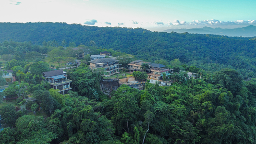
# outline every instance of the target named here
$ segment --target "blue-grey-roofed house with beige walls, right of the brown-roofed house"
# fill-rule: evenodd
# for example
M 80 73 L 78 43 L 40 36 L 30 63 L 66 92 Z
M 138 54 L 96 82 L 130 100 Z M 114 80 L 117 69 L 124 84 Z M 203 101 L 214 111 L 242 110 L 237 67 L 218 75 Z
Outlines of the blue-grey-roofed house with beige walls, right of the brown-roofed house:
M 147 73 L 148 78 L 160 80 L 160 79 L 163 79 L 164 73 L 165 73 L 165 76 L 171 75 L 171 73 L 173 72 L 173 69 L 165 69 L 164 67 L 166 66 L 159 63 L 151 63 L 150 72 Z

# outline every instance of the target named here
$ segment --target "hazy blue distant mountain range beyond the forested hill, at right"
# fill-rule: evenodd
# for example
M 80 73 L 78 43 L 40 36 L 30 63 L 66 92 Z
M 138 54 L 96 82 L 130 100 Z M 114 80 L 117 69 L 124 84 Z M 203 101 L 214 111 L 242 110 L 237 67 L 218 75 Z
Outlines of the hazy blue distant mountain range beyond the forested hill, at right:
M 164 30 L 163 32 L 177 32 L 177 33 L 184 33 L 188 32 L 191 34 L 213 34 L 213 35 L 227 35 L 227 36 L 243 36 L 243 37 L 253 37 L 256 36 L 256 26 L 249 25 L 246 27 L 241 28 L 211 28 L 211 27 L 203 27 L 203 28 L 191 28 L 191 29 L 168 29 Z

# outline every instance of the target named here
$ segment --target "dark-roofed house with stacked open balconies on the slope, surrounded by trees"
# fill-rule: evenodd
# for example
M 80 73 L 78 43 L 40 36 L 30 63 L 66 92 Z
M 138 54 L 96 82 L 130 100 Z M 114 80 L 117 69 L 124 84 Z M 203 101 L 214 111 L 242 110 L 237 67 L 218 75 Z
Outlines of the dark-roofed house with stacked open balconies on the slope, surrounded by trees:
M 72 81 L 67 79 L 66 72 L 63 70 L 43 72 L 43 77 L 49 82 L 51 88 L 58 89 L 60 94 L 67 94 L 72 89 L 70 87 Z

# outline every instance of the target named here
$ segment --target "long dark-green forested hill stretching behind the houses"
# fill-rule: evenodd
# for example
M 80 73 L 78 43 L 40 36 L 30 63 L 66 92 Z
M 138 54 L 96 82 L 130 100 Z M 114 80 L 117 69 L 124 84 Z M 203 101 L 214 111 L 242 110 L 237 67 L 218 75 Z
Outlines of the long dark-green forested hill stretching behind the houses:
M 252 77 L 256 72 L 256 38 L 201 35 L 188 33 L 151 32 L 142 28 L 97 27 L 66 23 L 0 23 L 0 41 L 31 41 L 43 45 L 46 41 L 66 46 L 95 44 L 137 56 L 138 59 L 170 62 L 179 59 L 205 70 L 218 63 L 223 67 L 239 69 Z M 95 43 L 90 43 L 94 41 Z M 46 44 L 45 42 L 45 44 Z M 214 66 L 219 68 L 220 66 Z M 210 70 L 215 71 L 215 70 Z M 216 70 L 217 71 L 217 70 Z M 218 69 L 219 71 L 219 69 Z M 251 74 L 248 74 L 251 72 Z

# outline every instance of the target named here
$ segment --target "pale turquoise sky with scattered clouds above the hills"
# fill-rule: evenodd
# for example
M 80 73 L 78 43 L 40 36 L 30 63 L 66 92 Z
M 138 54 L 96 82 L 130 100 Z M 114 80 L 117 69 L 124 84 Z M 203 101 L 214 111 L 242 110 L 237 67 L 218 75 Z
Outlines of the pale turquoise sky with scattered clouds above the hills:
M 236 28 L 256 25 L 256 0 L 0 0 L 0 22 Z

